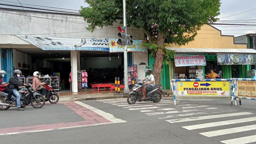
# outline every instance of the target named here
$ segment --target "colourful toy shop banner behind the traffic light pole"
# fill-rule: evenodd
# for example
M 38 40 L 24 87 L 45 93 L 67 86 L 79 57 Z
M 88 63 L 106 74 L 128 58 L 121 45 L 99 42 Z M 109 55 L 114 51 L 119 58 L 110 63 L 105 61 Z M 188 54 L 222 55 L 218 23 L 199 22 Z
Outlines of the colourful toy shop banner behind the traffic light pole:
M 117 38 L 109 38 L 109 52 L 124 52 L 124 46 L 117 44 Z M 132 40 L 132 45 L 127 45 L 127 49 L 130 49 L 129 52 L 142 52 L 147 53 L 147 46 L 143 43 L 147 43 L 147 40 Z

